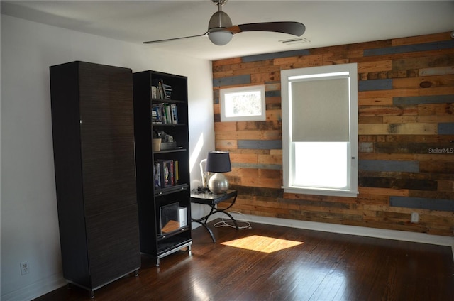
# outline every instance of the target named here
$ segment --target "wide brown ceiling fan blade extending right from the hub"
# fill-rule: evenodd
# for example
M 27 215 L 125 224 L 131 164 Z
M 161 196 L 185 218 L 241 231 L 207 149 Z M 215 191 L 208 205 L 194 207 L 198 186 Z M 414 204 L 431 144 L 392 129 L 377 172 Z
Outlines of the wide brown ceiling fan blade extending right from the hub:
M 273 31 L 275 33 L 289 33 L 290 35 L 301 36 L 306 31 L 306 26 L 299 22 L 263 22 L 235 25 L 225 28 L 233 34 L 243 31 Z

